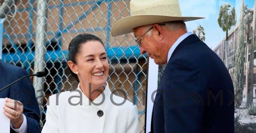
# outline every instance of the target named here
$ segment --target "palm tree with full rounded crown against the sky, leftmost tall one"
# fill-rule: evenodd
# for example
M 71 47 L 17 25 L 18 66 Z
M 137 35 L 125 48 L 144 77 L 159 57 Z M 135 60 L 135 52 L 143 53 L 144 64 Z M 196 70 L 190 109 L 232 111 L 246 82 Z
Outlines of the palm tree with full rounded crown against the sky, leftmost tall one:
M 236 25 L 236 9 L 233 7 L 230 10 L 230 4 L 224 4 L 221 6 L 218 16 L 218 25 L 220 28 L 226 32 L 226 50 L 225 50 L 225 65 L 227 66 L 227 41 L 228 41 L 228 30 L 232 26 Z

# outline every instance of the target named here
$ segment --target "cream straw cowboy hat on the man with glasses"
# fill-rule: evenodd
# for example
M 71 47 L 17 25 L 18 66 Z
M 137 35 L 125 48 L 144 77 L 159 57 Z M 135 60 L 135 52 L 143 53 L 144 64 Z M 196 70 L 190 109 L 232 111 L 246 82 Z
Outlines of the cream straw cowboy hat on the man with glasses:
M 143 25 L 183 20 L 191 21 L 203 17 L 183 17 L 178 0 L 131 0 L 131 16 L 117 21 L 111 30 L 112 36 L 133 32 Z

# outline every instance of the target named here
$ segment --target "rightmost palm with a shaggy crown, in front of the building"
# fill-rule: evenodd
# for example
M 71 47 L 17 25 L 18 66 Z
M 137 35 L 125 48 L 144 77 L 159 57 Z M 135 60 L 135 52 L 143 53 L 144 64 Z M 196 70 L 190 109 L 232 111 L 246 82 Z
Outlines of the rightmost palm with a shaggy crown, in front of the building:
M 250 38 L 250 24 L 253 22 L 253 10 L 248 9 L 247 5 L 244 6 L 244 25 L 247 27 L 247 47 L 249 46 L 249 38 Z M 247 101 L 246 106 L 249 106 L 253 103 L 253 58 L 254 58 L 254 47 L 253 43 L 251 43 L 250 47 L 250 62 L 249 62 L 249 74 L 247 78 Z M 247 69 L 246 69 L 247 71 Z

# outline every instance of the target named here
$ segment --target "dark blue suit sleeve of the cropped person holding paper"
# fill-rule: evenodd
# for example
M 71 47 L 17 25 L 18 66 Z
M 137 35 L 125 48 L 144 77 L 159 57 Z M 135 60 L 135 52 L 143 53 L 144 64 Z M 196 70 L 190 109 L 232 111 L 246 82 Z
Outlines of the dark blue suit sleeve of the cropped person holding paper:
M 27 75 L 23 68 L 16 69 L 14 73 L 13 81 Z M 11 86 L 10 98 L 23 103 L 23 114 L 26 116 L 28 126 L 27 133 L 41 133 L 40 111 L 30 78 L 25 78 Z

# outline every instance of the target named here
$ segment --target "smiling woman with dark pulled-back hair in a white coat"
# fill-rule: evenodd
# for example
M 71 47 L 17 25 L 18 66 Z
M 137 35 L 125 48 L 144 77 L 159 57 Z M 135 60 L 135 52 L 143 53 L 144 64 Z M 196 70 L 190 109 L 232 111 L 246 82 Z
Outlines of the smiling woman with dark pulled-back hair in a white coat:
M 80 34 L 69 44 L 68 66 L 76 90 L 49 97 L 42 133 L 138 133 L 137 106 L 111 93 L 101 39 Z

